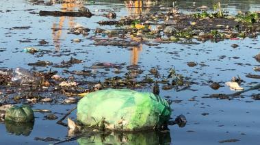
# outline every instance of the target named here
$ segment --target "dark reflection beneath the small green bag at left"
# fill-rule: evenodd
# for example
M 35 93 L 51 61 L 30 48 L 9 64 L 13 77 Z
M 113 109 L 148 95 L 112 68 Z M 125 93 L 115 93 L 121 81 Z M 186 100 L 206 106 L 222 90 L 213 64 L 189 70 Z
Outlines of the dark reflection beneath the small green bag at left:
M 5 128 L 8 133 L 29 136 L 34 129 L 34 122 L 5 121 Z

